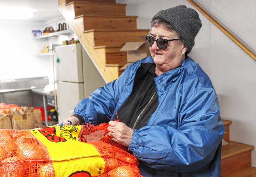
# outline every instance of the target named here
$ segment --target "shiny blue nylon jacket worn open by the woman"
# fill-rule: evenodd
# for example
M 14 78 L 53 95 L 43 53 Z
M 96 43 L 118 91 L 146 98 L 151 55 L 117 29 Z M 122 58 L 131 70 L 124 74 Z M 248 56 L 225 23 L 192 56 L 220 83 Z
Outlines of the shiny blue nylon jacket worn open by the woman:
M 129 65 L 120 77 L 82 99 L 74 114 L 97 124 L 114 118 L 130 96 L 137 69 L 151 56 Z M 224 125 L 211 80 L 190 57 L 155 79 L 158 107 L 147 125 L 134 130 L 129 151 L 140 160 L 141 175 L 220 176 Z

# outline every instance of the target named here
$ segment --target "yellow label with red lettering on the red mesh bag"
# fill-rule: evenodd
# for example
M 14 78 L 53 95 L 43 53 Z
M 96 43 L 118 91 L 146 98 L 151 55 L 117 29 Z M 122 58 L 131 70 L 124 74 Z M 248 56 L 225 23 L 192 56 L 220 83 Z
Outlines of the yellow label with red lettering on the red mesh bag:
M 30 132 L 47 147 L 55 176 L 99 176 L 105 161 L 91 144 L 77 141 L 81 126 L 55 126 Z

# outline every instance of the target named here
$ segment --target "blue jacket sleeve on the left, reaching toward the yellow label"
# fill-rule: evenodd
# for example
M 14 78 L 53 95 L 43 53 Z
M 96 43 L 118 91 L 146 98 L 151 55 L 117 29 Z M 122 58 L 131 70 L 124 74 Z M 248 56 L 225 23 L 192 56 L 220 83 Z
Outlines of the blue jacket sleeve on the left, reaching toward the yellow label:
M 104 87 L 95 90 L 89 98 L 78 102 L 73 115 L 78 114 L 85 122 L 94 125 L 108 122 L 127 81 L 128 73 L 129 69 L 126 68 L 118 79 L 105 84 Z

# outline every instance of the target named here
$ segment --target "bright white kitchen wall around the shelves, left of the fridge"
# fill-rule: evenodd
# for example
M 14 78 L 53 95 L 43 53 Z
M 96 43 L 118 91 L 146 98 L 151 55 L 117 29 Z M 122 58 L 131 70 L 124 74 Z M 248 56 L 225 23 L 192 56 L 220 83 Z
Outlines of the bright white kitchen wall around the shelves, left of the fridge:
M 53 83 L 53 57 L 37 54 L 44 45 L 62 44 L 62 41 L 69 40 L 75 35 L 35 40 L 31 31 L 43 31 L 45 27 L 57 30 L 58 24 L 64 22 L 66 21 L 63 17 L 45 23 L 0 21 L 0 80 L 48 76 L 49 82 Z

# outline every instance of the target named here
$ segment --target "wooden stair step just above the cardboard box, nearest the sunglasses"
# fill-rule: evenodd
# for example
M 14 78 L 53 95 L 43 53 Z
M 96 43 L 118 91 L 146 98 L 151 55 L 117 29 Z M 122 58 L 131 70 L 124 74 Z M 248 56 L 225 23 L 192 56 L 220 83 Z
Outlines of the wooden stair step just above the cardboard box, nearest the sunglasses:
M 148 29 L 137 30 L 87 30 L 84 33 L 93 33 L 94 47 L 121 46 L 126 42 L 143 41 L 140 36 L 147 35 Z

